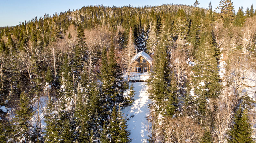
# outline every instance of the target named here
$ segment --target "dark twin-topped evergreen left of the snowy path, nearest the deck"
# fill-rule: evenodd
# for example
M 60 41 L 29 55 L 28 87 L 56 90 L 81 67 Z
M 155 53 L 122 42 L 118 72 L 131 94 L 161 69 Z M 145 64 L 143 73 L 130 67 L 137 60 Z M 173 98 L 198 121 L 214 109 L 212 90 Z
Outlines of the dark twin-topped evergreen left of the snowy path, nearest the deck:
M 114 46 L 111 45 L 108 58 L 106 48 L 102 52 L 101 61 L 101 90 L 103 95 L 104 112 L 108 116 L 109 111 L 113 108 L 115 103 L 120 103 L 126 106 L 128 103 L 123 103 L 123 91 L 128 88 L 127 84 L 121 77 L 122 71 L 120 66 L 117 64 L 114 53 Z

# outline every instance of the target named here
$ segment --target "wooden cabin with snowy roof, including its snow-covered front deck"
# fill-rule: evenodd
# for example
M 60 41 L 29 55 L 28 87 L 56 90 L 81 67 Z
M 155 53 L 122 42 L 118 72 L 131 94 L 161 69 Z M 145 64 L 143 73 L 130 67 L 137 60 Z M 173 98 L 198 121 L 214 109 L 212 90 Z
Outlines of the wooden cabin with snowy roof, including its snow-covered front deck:
M 129 82 L 147 82 L 149 72 L 152 70 L 152 58 L 141 51 L 131 59 L 131 73 L 128 75 Z M 141 68 L 141 73 L 140 72 Z

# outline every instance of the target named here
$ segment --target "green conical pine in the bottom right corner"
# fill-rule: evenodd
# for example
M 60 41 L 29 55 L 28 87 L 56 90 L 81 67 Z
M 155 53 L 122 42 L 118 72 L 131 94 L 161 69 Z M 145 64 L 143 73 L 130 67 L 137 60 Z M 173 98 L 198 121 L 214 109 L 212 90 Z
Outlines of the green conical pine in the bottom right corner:
M 248 114 L 241 107 L 236 111 L 234 116 L 234 125 L 228 132 L 230 139 L 229 143 L 255 143 L 252 139 L 251 125 L 248 123 Z

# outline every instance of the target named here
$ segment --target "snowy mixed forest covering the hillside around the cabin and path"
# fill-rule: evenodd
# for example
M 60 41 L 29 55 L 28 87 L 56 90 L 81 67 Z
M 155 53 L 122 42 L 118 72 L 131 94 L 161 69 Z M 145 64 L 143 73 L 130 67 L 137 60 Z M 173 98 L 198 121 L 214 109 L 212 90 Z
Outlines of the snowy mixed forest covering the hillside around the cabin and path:
M 256 10 L 199 2 L 90 5 L 1 27 L 0 142 L 133 142 L 124 77 L 144 51 L 148 143 L 254 143 Z

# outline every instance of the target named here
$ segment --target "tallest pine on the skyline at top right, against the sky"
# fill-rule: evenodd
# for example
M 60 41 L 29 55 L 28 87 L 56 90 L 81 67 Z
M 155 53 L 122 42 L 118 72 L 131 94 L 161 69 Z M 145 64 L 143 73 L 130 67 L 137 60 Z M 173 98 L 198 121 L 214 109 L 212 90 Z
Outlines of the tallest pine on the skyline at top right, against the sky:
M 220 11 L 220 18 L 224 21 L 224 26 L 228 27 L 230 21 L 234 20 L 233 2 L 231 0 L 220 0 L 216 9 Z

